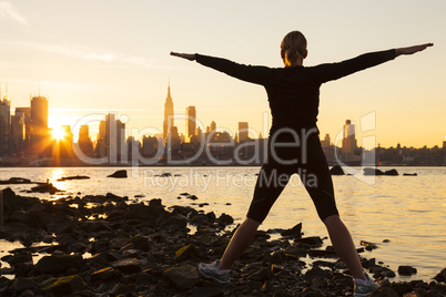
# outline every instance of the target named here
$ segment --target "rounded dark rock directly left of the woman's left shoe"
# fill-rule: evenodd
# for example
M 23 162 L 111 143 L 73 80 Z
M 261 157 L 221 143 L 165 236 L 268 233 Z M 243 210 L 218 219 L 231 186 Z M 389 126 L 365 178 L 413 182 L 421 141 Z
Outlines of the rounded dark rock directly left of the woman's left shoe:
M 164 270 L 166 277 L 180 290 L 193 288 L 200 280 L 196 267 L 185 264 L 180 267 L 171 267 Z

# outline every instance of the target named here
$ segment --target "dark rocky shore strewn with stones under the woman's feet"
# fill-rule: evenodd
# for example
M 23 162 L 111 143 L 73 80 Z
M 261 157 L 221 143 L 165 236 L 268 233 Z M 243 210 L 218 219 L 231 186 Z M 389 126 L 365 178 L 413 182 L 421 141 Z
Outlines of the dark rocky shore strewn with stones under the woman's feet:
M 183 198 L 197 199 L 184 193 Z M 0 296 L 351 296 L 353 281 L 321 237 L 302 237 L 302 225 L 259 231 L 236 262 L 231 284 L 202 278 L 196 265 L 219 258 L 235 228 L 216 216 L 161 199 L 132 203 L 113 194 L 57 202 L 3 191 L 0 238 L 20 240 L 0 267 Z M 364 242 L 359 252 L 373 249 Z M 310 256 L 310 258 L 307 257 Z M 311 259 L 311 260 L 310 260 Z M 306 260 L 306 263 L 305 263 Z M 362 258 L 382 285 L 372 296 L 446 296 L 446 269 L 433 279 L 395 283 L 396 274 Z

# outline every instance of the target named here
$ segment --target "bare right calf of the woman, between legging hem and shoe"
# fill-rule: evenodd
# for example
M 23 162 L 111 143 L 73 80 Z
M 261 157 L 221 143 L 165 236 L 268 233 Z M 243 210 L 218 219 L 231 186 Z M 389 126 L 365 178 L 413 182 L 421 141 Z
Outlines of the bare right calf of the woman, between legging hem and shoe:
M 364 279 L 365 275 L 357 255 L 355 244 L 347 227 L 341 221 L 338 215 L 332 215 L 324 219 L 328 231 L 330 239 L 341 260 L 347 265 L 347 268 L 355 279 Z

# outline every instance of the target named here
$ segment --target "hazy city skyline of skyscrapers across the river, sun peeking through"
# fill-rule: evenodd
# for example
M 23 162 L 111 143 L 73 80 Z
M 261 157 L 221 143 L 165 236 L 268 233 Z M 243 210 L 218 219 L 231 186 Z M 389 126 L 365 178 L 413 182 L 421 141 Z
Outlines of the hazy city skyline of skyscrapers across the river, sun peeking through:
M 189 105 L 184 116 L 175 115 L 171 86 L 164 103 L 163 131 L 138 131 L 138 139 L 115 113 L 99 121 L 97 140 L 90 137 L 90 125 L 79 127 L 74 140 L 70 125 L 52 129 L 48 125 L 49 99 L 30 95 L 30 106 L 17 107 L 11 114 L 11 101 L 6 94 L 0 101 L 0 163 L 9 165 L 261 165 L 265 161 L 267 142 L 262 133 L 239 122 L 237 130 L 219 131 L 215 121 L 204 125 L 196 116 L 195 106 Z M 183 120 L 184 133 L 175 125 Z M 334 137 L 325 134 L 322 148 L 330 164 L 382 165 L 382 162 L 404 165 L 446 164 L 446 141 L 443 147 L 416 150 L 402 146 L 385 148 L 376 144 L 375 114 L 369 113 L 356 123 L 346 120 L 342 132 Z M 158 132 L 158 133 L 156 133 Z M 359 133 L 357 133 L 359 132 Z M 363 135 L 366 132 L 368 135 Z M 358 136 L 358 137 L 356 137 Z M 365 147 L 358 140 L 372 145 Z M 305 140 L 301 140 L 303 143 Z

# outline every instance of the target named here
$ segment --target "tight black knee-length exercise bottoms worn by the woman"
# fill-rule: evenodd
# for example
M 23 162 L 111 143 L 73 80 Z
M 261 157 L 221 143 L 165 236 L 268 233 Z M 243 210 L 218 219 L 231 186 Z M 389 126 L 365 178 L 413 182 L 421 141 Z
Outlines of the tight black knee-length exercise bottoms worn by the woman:
M 260 171 L 246 216 L 262 223 L 294 173 L 301 176 L 322 221 L 338 215 L 328 163 L 317 127 L 313 126 L 271 130 L 267 160 Z

